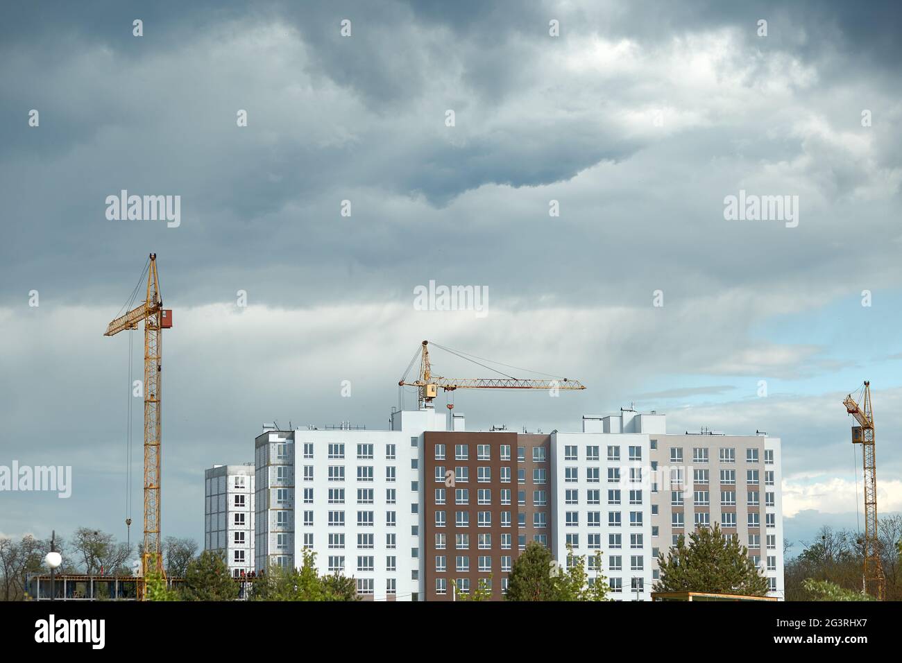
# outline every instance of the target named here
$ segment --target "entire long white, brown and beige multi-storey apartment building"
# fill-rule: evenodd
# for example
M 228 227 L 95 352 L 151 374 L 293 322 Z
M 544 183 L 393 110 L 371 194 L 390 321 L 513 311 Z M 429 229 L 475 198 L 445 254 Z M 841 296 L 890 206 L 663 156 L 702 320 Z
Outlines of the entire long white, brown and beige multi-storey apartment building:
M 300 566 L 308 548 L 321 574 L 354 576 L 373 600 L 449 601 L 480 583 L 498 600 L 537 541 L 561 566 L 569 549 L 584 556 L 615 600 L 646 601 L 658 555 L 719 523 L 780 597 L 780 480 L 777 437 L 672 435 L 655 412 L 550 435 L 466 432 L 431 409 L 392 412 L 390 430 L 268 430 L 253 568 Z

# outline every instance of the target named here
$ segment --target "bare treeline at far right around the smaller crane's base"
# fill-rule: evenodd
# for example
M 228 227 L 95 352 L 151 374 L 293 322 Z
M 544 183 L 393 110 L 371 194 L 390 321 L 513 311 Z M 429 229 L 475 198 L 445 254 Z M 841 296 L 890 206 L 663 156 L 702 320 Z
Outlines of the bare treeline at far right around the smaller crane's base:
M 887 581 L 888 601 L 902 601 L 902 569 L 899 548 L 902 544 L 902 514 L 878 520 L 880 561 Z M 787 601 L 811 601 L 816 598 L 811 582 L 833 583 L 851 592 L 861 592 L 864 563 L 862 536 L 848 529 L 821 528 L 815 539 L 802 543 L 802 551 L 789 558 L 787 547 L 784 582 Z

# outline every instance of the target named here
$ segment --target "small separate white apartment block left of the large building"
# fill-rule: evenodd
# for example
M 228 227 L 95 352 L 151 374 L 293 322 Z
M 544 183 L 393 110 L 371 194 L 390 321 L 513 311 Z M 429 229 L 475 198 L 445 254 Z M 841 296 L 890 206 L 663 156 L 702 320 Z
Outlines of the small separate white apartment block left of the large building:
M 204 549 L 226 559 L 233 576 L 253 571 L 253 463 L 214 465 L 205 473 Z

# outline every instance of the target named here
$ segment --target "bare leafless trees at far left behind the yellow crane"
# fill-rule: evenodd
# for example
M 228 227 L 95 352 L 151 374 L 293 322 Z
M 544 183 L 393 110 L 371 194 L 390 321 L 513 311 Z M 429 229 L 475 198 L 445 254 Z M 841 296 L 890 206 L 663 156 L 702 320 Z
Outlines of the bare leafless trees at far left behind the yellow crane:
M 62 557 L 60 574 L 131 576 L 130 560 L 140 558 L 143 549 L 143 544 L 130 546 L 112 534 L 86 527 L 76 529 L 71 539 L 57 537 L 54 544 Z M 28 576 L 50 573 L 44 564 L 50 551 L 49 538 L 35 539 L 30 534 L 21 539 L 0 538 L 0 600 L 22 601 Z M 184 576 L 197 553 L 194 539 L 167 537 L 163 541 L 166 573 Z

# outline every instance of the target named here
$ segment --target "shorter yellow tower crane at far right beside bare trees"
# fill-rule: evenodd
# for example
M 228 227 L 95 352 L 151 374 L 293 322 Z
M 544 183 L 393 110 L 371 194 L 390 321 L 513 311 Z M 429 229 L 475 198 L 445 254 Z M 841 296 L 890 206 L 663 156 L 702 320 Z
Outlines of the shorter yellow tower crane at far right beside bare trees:
M 870 382 L 864 383 L 861 407 L 851 394 L 842 404 L 859 425 L 851 428 L 852 444 L 861 445 L 864 474 L 864 591 L 883 601 L 886 581 L 880 564 L 877 539 L 877 460 L 874 456 L 874 413 L 870 405 Z

